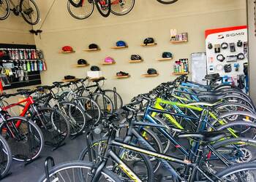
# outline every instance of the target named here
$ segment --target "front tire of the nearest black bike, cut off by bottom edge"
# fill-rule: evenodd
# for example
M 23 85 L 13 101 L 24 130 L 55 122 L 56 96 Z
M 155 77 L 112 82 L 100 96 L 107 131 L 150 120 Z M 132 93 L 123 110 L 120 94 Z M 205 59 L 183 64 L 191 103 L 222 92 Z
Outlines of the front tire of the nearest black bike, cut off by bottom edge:
M 89 163 L 89 162 L 80 162 L 80 161 L 65 162 L 65 163 L 61 163 L 59 165 L 54 166 L 49 171 L 49 177 L 50 177 L 50 179 L 56 179 L 56 178 L 58 178 L 58 173 L 60 173 L 61 171 L 64 171 L 65 173 L 67 173 L 67 170 L 69 170 L 69 169 L 71 169 L 73 171 L 82 170 L 82 169 L 83 170 L 85 170 L 85 169 L 92 170 L 94 167 L 95 167 L 94 164 Z M 113 172 L 111 172 L 110 170 L 108 170 L 106 168 L 103 168 L 101 173 L 102 173 L 102 175 L 107 176 L 108 180 L 111 180 L 113 182 L 114 181 L 121 182 L 121 180 L 118 178 L 118 176 L 116 176 Z M 74 178 L 69 178 L 69 179 L 74 179 L 74 181 L 69 180 L 70 182 L 80 181 L 78 175 L 75 175 Z M 47 181 L 47 178 L 45 177 L 45 175 L 42 175 L 39 178 L 39 182 L 46 182 L 46 181 Z M 107 181 L 107 180 L 105 180 L 105 181 Z

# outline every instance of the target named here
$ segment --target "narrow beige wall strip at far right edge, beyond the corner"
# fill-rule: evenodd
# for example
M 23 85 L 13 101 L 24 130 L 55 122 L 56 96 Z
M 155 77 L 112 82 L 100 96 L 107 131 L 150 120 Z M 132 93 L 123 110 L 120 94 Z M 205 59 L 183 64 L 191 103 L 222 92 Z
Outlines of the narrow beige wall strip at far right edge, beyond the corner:
M 255 16 L 254 16 L 254 0 L 248 1 L 248 26 L 249 26 L 249 86 L 250 96 L 256 100 L 256 36 L 255 36 Z

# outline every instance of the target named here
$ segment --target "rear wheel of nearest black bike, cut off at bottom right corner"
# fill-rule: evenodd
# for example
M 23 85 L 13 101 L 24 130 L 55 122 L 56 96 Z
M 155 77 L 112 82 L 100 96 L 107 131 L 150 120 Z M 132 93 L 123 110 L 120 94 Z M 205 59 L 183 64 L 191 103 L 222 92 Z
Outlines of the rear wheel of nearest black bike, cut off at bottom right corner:
M 240 181 L 240 182 L 254 182 L 256 181 L 256 162 L 249 162 L 228 167 L 217 176 L 222 181 Z M 216 179 L 216 181 L 219 181 Z

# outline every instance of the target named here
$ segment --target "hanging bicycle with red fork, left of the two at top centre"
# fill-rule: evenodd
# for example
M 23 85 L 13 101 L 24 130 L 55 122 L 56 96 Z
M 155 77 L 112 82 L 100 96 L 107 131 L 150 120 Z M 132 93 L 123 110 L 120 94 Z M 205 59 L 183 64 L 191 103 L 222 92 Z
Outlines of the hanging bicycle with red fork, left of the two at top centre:
M 94 12 L 96 5 L 100 15 L 108 17 L 111 11 L 110 0 L 68 0 L 67 10 L 72 17 L 78 20 L 86 19 Z

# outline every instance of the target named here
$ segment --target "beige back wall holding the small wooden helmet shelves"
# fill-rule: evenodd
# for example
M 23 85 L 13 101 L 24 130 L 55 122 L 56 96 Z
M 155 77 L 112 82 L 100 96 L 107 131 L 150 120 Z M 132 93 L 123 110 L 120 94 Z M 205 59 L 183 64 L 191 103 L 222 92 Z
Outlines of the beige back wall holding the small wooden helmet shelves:
M 38 1 L 45 17 L 52 1 Z M 89 68 L 73 68 L 79 58 L 84 58 L 91 65 L 100 66 L 108 79 L 106 87 L 117 87 L 125 102 L 133 95 L 147 92 L 160 82 L 174 79 L 173 61 L 158 62 L 162 52 L 173 52 L 174 60 L 189 58 L 192 52 L 205 51 L 204 31 L 208 28 L 221 28 L 246 24 L 246 3 L 244 0 L 179 0 L 176 4 L 163 5 L 155 0 L 137 0 L 135 9 L 129 15 L 108 18 L 100 17 L 97 10 L 86 20 L 75 20 L 67 12 L 67 1 L 56 1 L 48 19 L 42 26 L 42 39 L 36 37 L 37 47 L 45 53 L 48 71 L 42 73 L 43 84 L 63 79 L 71 74 L 86 76 Z M 40 26 L 37 25 L 38 27 Z M 170 44 L 170 28 L 178 32 L 188 32 L 187 44 Z M 36 28 L 37 29 L 37 28 Z M 157 47 L 140 47 L 144 38 L 152 36 Z M 127 41 L 126 50 L 111 50 L 116 41 Z M 97 43 L 100 52 L 83 52 L 90 43 Z M 64 45 L 71 45 L 75 54 L 62 55 L 59 50 Z M 128 63 L 129 56 L 139 54 L 143 63 Z M 101 66 L 105 56 L 116 60 L 114 66 Z M 159 76 L 143 78 L 147 68 L 156 68 Z M 127 71 L 129 79 L 114 78 L 117 71 Z

